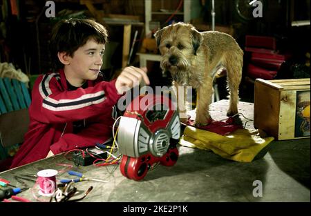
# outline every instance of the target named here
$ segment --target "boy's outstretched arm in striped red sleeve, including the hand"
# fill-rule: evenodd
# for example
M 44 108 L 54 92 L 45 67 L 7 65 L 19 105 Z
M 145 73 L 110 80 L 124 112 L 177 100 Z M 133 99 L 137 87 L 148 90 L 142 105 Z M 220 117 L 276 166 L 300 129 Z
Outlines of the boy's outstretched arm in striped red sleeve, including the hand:
M 33 118 L 44 123 L 62 123 L 95 116 L 115 105 L 126 90 L 142 81 L 149 84 L 146 71 L 147 68 L 126 67 L 114 81 L 73 91 L 59 89 L 56 73 L 45 75 L 36 81 L 32 91 L 32 110 L 36 113 Z

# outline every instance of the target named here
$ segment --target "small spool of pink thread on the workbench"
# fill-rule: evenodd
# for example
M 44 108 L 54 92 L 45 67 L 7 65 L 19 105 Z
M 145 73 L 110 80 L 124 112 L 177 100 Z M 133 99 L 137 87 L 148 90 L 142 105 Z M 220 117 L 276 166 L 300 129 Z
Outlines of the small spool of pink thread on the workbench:
M 39 184 L 39 195 L 50 197 L 56 190 L 57 170 L 41 170 L 37 173 L 37 183 Z

